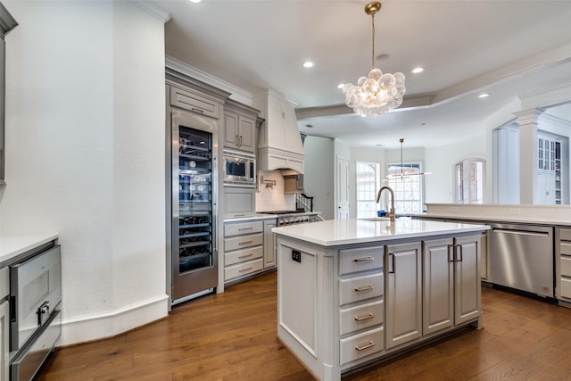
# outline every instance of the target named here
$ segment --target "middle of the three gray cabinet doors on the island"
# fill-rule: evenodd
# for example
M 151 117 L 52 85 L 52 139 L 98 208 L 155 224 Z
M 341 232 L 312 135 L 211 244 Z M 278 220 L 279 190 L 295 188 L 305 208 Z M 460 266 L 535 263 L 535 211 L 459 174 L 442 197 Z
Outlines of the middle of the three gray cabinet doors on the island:
M 424 335 L 454 324 L 454 262 L 451 246 L 451 238 L 424 242 Z

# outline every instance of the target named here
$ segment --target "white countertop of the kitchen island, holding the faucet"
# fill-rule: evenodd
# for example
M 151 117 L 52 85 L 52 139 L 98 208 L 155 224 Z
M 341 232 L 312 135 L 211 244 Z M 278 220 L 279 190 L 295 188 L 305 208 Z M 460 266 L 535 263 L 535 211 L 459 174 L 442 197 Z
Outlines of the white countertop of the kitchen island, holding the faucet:
M 272 228 L 277 235 L 301 239 L 322 246 L 362 244 L 402 238 L 443 236 L 455 233 L 480 232 L 484 225 L 400 218 L 388 220 L 329 219 L 327 221 Z

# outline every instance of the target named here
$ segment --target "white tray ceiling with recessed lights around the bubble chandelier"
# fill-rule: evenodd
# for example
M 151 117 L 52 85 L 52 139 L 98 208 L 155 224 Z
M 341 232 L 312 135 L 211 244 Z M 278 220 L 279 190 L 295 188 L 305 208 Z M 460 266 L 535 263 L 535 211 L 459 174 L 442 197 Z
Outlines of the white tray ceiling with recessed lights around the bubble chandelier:
M 273 88 L 295 104 L 303 132 L 350 145 L 448 144 L 481 133 L 489 118 L 513 119 L 520 95 L 571 92 L 568 0 L 385 0 L 375 55 L 388 58 L 376 67 L 403 72 L 407 93 L 376 118 L 352 114 L 337 88 L 371 69 L 366 0 L 148 3 L 172 16 L 166 54 L 252 93 Z M 417 66 L 425 71 L 412 74 Z

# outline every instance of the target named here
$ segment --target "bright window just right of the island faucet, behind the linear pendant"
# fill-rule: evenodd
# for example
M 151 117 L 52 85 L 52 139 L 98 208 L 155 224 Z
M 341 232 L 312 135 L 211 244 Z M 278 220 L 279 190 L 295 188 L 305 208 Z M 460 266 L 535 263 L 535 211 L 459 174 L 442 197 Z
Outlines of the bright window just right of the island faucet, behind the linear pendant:
M 389 164 L 388 175 L 391 176 L 388 185 L 394 191 L 395 213 L 421 213 L 423 175 L 420 163 Z

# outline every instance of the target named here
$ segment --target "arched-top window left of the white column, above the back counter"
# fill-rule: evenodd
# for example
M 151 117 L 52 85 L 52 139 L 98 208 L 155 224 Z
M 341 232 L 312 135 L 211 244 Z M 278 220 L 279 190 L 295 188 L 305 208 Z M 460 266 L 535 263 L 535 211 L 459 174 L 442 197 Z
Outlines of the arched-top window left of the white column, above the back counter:
M 466 159 L 455 165 L 456 202 L 484 203 L 483 159 Z

